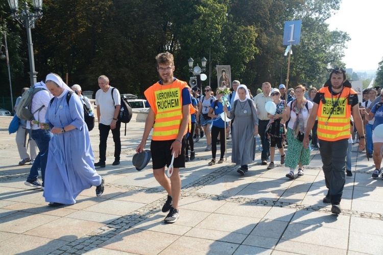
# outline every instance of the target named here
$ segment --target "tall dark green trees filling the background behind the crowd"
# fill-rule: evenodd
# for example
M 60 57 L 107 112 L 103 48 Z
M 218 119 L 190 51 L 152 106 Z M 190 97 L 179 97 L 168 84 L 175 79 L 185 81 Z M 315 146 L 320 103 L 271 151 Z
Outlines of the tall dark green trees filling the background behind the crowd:
M 284 22 L 301 19 L 289 84 L 323 84 L 329 68 L 344 66 L 343 49 L 350 39 L 342 31 L 329 31 L 325 23 L 340 1 L 44 0 L 44 16 L 32 32 L 38 79 L 49 72 L 65 79 L 68 73 L 69 85 L 95 91 L 104 74 L 122 93 L 142 95 L 158 80 L 155 56 L 167 50 L 175 56 L 175 75 L 181 80 L 191 75 L 188 58 L 200 64 L 206 57 L 211 79 L 204 86 L 217 86 L 216 65 L 230 65 L 232 80 L 252 89 L 266 81 L 277 86 L 285 83 L 287 72 Z M 26 35 L 6 0 L 0 0 L 1 31 L 7 31 L 12 45 L 12 80 L 20 89 L 29 81 Z M 0 67 L 5 77 L 4 63 Z

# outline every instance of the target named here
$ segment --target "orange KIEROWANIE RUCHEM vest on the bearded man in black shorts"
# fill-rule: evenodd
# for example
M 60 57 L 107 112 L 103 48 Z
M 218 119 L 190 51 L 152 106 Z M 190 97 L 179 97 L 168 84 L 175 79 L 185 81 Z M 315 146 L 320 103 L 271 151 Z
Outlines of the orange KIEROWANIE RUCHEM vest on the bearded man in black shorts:
M 184 88 L 189 88 L 187 83 L 176 79 L 170 85 L 161 85 L 157 82 L 144 92 L 155 113 L 152 140 L 167 141 L 177 138 L 182 122 L 182 89 Z M 194 112 L 195 109 L 190 107 L 189 113 Z M 188 130 L 190 129 L 189 115 Z M 187 130 L 183 135 L 186 133 Z

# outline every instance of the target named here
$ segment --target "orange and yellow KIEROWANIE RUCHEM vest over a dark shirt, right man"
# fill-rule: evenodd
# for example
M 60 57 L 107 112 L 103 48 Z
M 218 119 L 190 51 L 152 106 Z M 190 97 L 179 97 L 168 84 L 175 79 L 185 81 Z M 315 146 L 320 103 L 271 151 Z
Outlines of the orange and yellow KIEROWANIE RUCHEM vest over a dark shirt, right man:
M 353 89 L 344 87 L 342 94 L 339 98 L 338 106 L 331 110 L 332 100 L 334 103 L 337 101 L 339 95 L 333 96 L 331 99 L 331 92 L 328 87 L 321 88 L 318 93 L 324 94 L 326 103 L 323 104 L 322 100 L 318 108 L 318 138 L 325 141 L 338 141 L 341 139 L 350 138 L 350 118 L 351 118 L 351 105 L 348 100 L 350 94 L 357 94 Z M 330 112 L 332 114 L 330 115 Z

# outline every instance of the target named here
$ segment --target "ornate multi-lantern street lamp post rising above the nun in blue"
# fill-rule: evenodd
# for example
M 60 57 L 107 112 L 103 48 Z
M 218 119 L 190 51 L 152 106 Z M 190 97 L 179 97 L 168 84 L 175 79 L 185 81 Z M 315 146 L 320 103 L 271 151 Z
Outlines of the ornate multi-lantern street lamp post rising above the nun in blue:
M 11 8 L 12 17 L 27 29 L 30 67 L 30 71 L 28 73 L 31 80 L 31 86 L 33 86 L 37 82 L 37 72 L 35 70 L 31 29 L 35 28 L 36 21 L 42 17 L 42 0 L 33 0 L 33 10 L 35 12 L 29 11 L 27 2 L 24 2 L 24 9 L 20 12 L 18 11 L 18 0 L 8 0 L 8 4 Z

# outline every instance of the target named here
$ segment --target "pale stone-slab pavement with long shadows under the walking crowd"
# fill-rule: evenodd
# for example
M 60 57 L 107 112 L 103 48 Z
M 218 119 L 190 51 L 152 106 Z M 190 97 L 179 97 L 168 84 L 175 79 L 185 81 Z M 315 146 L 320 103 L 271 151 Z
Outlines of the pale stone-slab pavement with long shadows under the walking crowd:
M 1 254 L 383 253 L 383 181 L 371 178 L 372 159 L 357 153 L 356 145 L 343 212 L 336 216 L 322 202 L 326 188 L 318 150 L 312 151 L 305 175 L 293 181 L 284 176 L 288 169 L 278 164 L 279 153 L 274 169 L 261 166 L 258 153 L 249 172 L 240 176 L 230 163 L 230 149 L 228 162 L 208 166 L 211 152 L 204 151 L 202 138 L 196 159 L 181 170 L 180 218 L 164 224 L 166 193 L 155 181 L 151 163 L 142 171 L 131 165 L 144 123 L 128 124 L 117 167 L 111 165 L 109 137 L 107 166 L 98 169 L 106 183 L 102 196 L 96 197 L 92 187 L 75 205 L 52 208 L 40 189 L 23 184 L 30 165 L 17 165 L 10 120 L 0 117 Z M 97 126 L 90 136 L 97 157 Z

